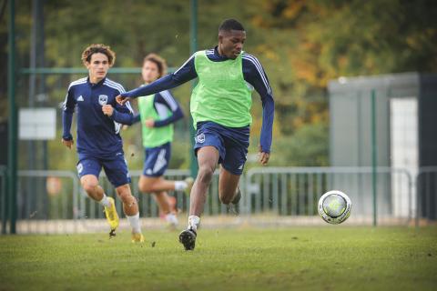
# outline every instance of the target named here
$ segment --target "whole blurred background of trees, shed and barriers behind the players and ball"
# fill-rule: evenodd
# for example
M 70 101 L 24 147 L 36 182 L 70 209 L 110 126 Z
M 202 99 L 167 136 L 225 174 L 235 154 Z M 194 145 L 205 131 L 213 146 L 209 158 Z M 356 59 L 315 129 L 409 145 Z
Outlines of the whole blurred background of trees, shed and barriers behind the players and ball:
M 15 144 L 7 133 L 11 5 Z M 269 167 L 259 168 L 262 106 L 259 95 L 253 95 L 251 146 L 242 180 L 246 196 L 235 211 L 301 216 L 308 224 L 317 214 L 318 198 L 339 188 L 355 202 L 358 223 L 435 220 L 435 1 L 0 0 L 2 232 L 14 230 L 16 221 L 25 223 L 18 227 L 25 233 L 36 231 L 39 226 L 31 224 L 38 221 L 103 217 L 78 188 L 76 150 L 60 143 L 60 105 L 69 83 L 86 76 L 80 55 L 87 45 L 111 46 L 117 60 L 108 77 L 129 90 L 141 84 L 145 55 L 157 53 L 167 59 L 170 71 L 176 69 L 193 48 L 217 45 L 218 26 L 225 18 L 237 18 L 245 26 L 244 50 L 259 58 L 275 98 L 272 155 Z M 173 90 L 186 115 L 190 90 L 190 83 Z M 48 120 L 47 127 L 42 125 L 43 134 L 30 129 L 26 135 L 25 128 L 33 125 L 25 120 L 39 118 L 36 114 Z M 137 196 L 144 157 L 139 133 L 135 125 L 122 132 Z M 191 174 L 191 135 L 189 119 L 178 122 L 169 176 Z M 16 189 L 7 184 L 14 181 L 8 145 L 15 145 Z M 232 214 L 234 210 L 219 205 L 216 184 L 217 179 L 207 215 Z M 188 197 L 175 197 L 185 212 Z M 153 199 L 139 198 L 142 216 L 158 216 Z

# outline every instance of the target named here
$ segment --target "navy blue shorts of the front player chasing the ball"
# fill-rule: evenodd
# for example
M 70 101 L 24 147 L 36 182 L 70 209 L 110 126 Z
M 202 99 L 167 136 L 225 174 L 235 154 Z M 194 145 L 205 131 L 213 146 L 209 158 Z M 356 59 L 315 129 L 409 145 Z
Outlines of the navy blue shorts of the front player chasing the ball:
M 228 127 L 212 121 L 199 122 L 194 152 L 203 146 L 214 146 L 219 151 L 219 164 L 234 175 L 243 173 L 249 147 L 250 128 Z

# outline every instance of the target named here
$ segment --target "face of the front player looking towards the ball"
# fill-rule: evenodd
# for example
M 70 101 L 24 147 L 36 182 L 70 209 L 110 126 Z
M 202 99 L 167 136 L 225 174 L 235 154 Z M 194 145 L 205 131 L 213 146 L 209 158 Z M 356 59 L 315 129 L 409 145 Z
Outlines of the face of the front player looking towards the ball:
M 241 30 L 230 30 L 219 32 L 219 53 L 231 59 L 237 58 L 243 50 L 246 41 L 246 32 Z

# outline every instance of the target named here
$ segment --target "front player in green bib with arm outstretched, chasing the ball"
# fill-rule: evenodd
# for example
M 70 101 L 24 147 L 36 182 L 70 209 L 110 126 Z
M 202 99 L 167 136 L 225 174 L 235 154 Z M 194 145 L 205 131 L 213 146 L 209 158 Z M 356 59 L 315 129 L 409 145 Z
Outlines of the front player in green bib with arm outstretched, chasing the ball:
M 239 176 L 249 147 L 253 89 L 259 93 L 263 106 L 259 162 L 261 165 L 269 162 L 274 101 L 259 60 L 242 51 L 245 40 L 243 25 L 227 19 L 219 26 L 218 46 L 195 53 L 173 74 L 117 96 L 117 102 L 124 104 L 130 98 L 170 89 L 198 77 L 190 104 L 197 128 L 194 150 L 198 156 L 198 176 L 191 189 L 188 229 L 179 235 L 186 250 L 195 247 L 199 216 L 218 163 L 220 201 L 226 205 L 239 202 Z

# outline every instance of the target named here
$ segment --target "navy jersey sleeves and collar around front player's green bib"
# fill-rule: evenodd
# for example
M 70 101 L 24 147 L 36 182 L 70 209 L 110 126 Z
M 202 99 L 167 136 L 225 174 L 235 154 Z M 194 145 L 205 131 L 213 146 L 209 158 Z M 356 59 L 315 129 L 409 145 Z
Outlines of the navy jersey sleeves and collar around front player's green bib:
M 228 57 L 219 55 L 218 47 L 207 50 L 208 59 L 213 62 L 222 62 L 228 60 Z M 242 55 L 243 61 L 243 76 L 249 86 L 252 86 L 261 97 L 262 102 L 262 127 L 260 135 L 260 145 L 263 152 L 269 153 L 271 146 L 271 134 L 273 127 L 273 117 L 275 111 L 275 104 L 271 87 L 269 85 L 269 79 L 259 60 L 247 53 Z M 194 65 L 194 55 L 191 55 L 188 60 L 173 73 L 166 75 L 157 81 L 139 87 L 135 90 L 123 93 L 125 97 L 137 97 L 141 95 L 151 95 L 159 91 L 174 88 L 178 85 L 182 85 L 194 78 L 198 77 L 196 67 Z

